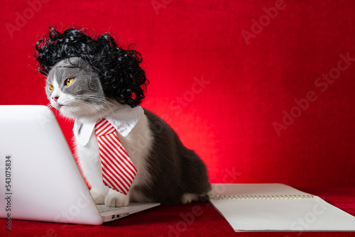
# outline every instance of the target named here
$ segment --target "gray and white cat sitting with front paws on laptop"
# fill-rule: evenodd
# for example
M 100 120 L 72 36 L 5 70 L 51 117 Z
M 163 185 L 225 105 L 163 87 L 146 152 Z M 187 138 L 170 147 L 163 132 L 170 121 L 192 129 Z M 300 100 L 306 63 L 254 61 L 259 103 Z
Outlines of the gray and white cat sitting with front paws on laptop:
M 48 73 L 45 91 L 51 106 L 76 120 L 77 156 L 97 204 L 185 204 L 209 192 L 207 168 L 196 153 L 185 148 L 175 131 L 151 111 L 108 99 L 99 75 L 82 58 L 71 57 L 54 65 Z M 116 131 L 116 135 L 137 169 L 127 195 L 102 182 L 95 132 L 87 134 L 87 140 L 80 134 L 87 132 L 80 124 L 94 123 L 107 116 L 115 116 L 126 126 L 121 133 Z

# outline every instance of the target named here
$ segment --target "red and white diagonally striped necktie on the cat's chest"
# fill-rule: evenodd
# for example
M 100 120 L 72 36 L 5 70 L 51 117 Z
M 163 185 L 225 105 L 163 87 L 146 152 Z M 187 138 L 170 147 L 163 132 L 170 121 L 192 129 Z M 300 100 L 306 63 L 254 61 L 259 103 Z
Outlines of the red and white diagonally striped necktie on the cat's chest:
M 136 167 L 116 136 L 116 129 L 106 118 L 96 123 L 95 131 L 99 142 L 102 181 L 107 187 L 127 194 L 136 176 Z

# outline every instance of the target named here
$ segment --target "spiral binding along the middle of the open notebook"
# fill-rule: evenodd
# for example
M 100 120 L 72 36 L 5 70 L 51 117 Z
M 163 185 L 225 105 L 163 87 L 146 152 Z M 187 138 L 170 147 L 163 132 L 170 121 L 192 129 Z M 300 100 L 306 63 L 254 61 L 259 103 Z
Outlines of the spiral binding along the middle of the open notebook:
M 310 199 L 313 195 L 240 195 L 240 196 L 213 196 L 210 200 L 231 200 L 231 199 Z

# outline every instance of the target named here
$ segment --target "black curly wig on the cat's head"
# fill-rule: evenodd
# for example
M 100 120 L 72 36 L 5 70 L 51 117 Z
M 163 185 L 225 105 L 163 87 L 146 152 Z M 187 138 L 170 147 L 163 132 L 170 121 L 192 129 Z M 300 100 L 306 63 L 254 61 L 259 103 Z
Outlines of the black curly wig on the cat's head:
M 149 81 L 139 66 L 141 54 L 131 49 L 132 45 L 124 50 L 108 33 L 90 37 L 83 28 L 68 28 L 63 33 L 49 29 L 50 33 L 35 45 L 40 73 L 48 75 L 57 62 L 81 57 L 99 75 L 106 97 L 132 108 L 141 103 Z

